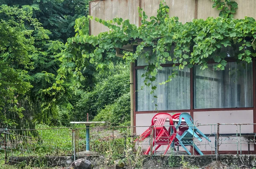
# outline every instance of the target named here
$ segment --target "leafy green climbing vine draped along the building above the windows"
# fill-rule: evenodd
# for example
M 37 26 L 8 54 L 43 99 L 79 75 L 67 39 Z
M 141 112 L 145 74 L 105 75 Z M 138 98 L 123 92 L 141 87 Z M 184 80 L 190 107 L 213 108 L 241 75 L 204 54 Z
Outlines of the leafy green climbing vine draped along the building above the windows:
M 97 36 L 88 35 L 88 20 L 93 17 L 82 17 L 76 20 L 76 36 L 68 39 L 66 50 L 60 58 L 61 68 L 58 70 L 58 80 L 55 84 L 61 90 L 61 83 L 67 72 L 72 75 L 74 86 L 79 87 L 83 78 L 81 71 L 89 63 L 94 64 L 99 71 L 106 71 L 112 66 L 111 60 L 115 57 L 115 49 L 123 45 L 137 45 L 135 52 L 123 51 L 123 59 L 135 62 L 138 57 L 145 59 L 145 85 L 151 86 L 152 92 L 156 89 L 155 81 L 162 64 L 172 62 L 175 69 L 191 68 L 201 65 L 207 68 L 207 62 L 214 61 L 215 69 L 223 70 L 227 61 L 225 56 L 216 51 L 221 48 L 239 44 L 237 60 L 251 62 L 256 54 L 250 48 L 256 48 L 256 21 L 253 18 L 234 19 L 237 3 L 231 0 L 213 0 L 213 7 L 220 10 L 217 18 L 209 17 L 206 20 L 195 19 L 182 24 L 177 17 L 169 17 L 169 7 L 160 3 L 157 16 L 148 18 L 143 9 L 138 8 L 141 25 L 137 27 L 129 20 L 114 18 L 113 20 L 95 20 L 109 28 L 109 32 Z M 150 51 L 145 51 L 150 48 Z M 171 54 L 169 51 L 173 51 Z M 169 76 L 170 81 L 175 73 Z M 166 83 L 163 82 L 163 83 Z

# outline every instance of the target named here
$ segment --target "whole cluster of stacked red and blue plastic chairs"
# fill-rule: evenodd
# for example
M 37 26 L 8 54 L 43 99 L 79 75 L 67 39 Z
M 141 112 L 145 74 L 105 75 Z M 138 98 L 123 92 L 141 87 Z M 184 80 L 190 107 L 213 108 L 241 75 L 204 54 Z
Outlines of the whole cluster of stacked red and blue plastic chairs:
M 174 125 L 173 119 L 178 119 L 178 124 Z M 165 122 L 169 120 L 169 129 L 167 130 Z M 153 153 L 162 145 L 167 145 L 167 148 L 164 152 L 166 154 L 167 150 L 170 146 L 174 149 L 175 147 L 182 146 L 186 152 L 191 155 L 191 152 L 186 148 L 186 146 L 191 146 L 192 149 L 195 150 L 197 155 L 204 155 L 198 146 L 194 144 L 194 139 L 198 139 L 198 141 L 202 141 L 202 138 L 206 138 L 209 142 L 209 138 L 207 138 L 204 133 L 198 130 L 194 125 L 194 121 L 189 113 L 176 113 L 175 115 L 170 115 L 169 113 L 157 113 L 151 120 L 151 126 L 143 132 L 139 138 L 135 141 L 143 141 L 149 135 L 153 136 L 153 144 L 152 147 L 156 146 L 153 150 Z M 148 155 L 150 152 L 151 146 L 143 153 Z

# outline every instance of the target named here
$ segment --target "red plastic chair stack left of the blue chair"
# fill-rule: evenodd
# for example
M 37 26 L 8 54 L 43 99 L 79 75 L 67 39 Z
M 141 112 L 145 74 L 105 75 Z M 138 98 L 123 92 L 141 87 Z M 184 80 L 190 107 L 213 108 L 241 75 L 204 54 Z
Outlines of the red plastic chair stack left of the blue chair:
M 169 119 L 169 130 L 166 129 L 165 122 L 166 120 Z M 173 133 L 171 134 L 171 129 Z M 143 132 L 139 138 L 137 138 L 135 141 L 143 141 L 145 138 L 147 138 L 151 132 L 153 132 L 153 144 L 152 146 L 154 147 L 157 145 L 153 151 L 153 153 L 162 145 L 170 145 L 172 141 L 175 139 L 175 134 L 176 129 L 174 127 L 173 121 L 172 121 L 172 115 L 169 113 L 157 113 L 154 115 L 154 117 L 151 120 L 151 126 Z M 168 148 L 164 152 L 166 154 Z M 147 155 L 150 152 L 150 146 L 148 149 L 143 153 Z

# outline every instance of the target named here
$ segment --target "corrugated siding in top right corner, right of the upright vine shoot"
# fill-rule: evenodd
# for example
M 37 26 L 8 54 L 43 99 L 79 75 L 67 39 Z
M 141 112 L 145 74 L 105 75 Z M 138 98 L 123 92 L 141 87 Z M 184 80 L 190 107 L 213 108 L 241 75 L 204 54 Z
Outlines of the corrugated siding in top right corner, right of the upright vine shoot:
M 234 18 L 244 19 L 245 16 L 256 19 L 256 0 L 236 0 L 238 8 Z

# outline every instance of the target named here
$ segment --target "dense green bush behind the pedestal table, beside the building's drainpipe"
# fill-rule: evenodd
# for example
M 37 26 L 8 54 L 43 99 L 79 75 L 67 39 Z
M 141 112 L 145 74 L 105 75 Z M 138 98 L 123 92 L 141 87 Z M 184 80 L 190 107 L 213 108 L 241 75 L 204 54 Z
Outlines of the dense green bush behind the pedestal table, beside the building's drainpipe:
M 118 100 L 119 97 L 129 92 L 129 74 L 128 74 L 128 66 L 125 64 L 119 63 L 115 68 L 111 71 L 111 74 L 105 75 L 97 75 L 96 81 L 98 83 L 93 90 L 79 92 L 76 102 L 73 103 L 73 114 L 72 118 L 75 121 L 83 121 L 86 120 L 87 113 L 89 113 L 90 119 L 92 119 L 97 113 L 99 113 L 102 109 L 104 109 L 107 105 L 113 104 L 113 106 L 108 106 L 107 110 L 113 109 L 117 105 L 120 106 L 121 101 Z M 122 105 L 120 109 L 115 108 L 116 113 L 119 111 L 120 113 L 127 112 L 127 104 L 129 104 L 126 100 L 128 96 L 124 96 L 125 104 Z M 117 103 L 115 103 L 117 102 Z M 126 115 L 125 113 L 124 115 Z M 120 116 L 122 118 L 122 122 L 126 120 L 127 117 Z

